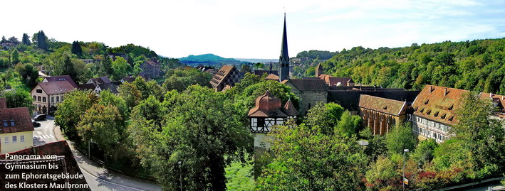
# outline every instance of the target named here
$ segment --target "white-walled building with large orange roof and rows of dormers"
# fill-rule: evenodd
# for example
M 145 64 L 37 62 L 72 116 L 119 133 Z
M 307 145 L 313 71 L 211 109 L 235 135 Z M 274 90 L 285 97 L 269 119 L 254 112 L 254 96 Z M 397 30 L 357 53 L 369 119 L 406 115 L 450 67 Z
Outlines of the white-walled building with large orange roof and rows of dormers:
M 417 95 L 412 109 L 414 114 L 407 116 L 412 121 L 412 131 L 420 139 L 434 138 L 438 143 L 452 136 L 451 126 L 458 123 L 456 110 L 461 107 L 463 95 L 467 90 L 426 85 Z

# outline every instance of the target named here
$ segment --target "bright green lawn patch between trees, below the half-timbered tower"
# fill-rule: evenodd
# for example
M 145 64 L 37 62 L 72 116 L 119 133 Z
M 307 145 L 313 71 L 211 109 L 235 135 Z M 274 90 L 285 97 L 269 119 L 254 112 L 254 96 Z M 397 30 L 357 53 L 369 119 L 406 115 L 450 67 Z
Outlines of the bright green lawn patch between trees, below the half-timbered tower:
M 253 165 L 239 162 L 231 163 L 226 168 L 228 190 L 256 190 L 256 182 L 252 174 Z

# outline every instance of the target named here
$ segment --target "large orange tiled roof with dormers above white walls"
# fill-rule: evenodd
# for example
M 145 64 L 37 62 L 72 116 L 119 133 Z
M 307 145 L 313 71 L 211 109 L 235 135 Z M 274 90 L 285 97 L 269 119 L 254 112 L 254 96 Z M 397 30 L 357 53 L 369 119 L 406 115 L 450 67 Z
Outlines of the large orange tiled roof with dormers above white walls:
M 417 95 L 412 108 L 416 116 L 421 116 L 444 124 L 457 124 L 456 110 L 461 107 L 464 89 L 426 85 Z

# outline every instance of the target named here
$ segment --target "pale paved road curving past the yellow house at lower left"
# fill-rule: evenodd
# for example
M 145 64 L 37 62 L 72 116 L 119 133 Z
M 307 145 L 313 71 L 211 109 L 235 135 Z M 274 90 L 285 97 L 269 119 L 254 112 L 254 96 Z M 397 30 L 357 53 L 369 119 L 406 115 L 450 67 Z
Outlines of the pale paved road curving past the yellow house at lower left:
M 54 125 L 54 118 L 48 116 L 44 121 L 38 121 L 41 126 L 35 127 L 33 131 L 33 144 L 40 146 L 46 143 L 56 142 L 58 139 L 65 140 L 61 136 L 59 127 Z M 152 182 L 145 182 L 142 180 L 137 180 L 135 178 L 130 178 L 125 175 L 120 175 L 118 173 L 110 172 L 105 168 L 101 168 L 95 163 L 88 160 L 82 153 L 76 151 L 72 144 L 68 144 L 71 147 L 74 158 L 83 172 L 84 178 L 91 190 L 161 190 L 159 185 Z

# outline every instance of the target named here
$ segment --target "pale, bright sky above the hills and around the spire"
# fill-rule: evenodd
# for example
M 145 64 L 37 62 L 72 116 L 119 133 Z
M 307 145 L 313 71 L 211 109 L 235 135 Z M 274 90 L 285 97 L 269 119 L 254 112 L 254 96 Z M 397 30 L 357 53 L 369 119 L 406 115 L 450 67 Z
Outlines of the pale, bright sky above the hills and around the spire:
M 133 43 L 170 58 L 278 58 L 284 12 L 291 57 L 505 37 L 505 0 L 9 0 L 0 7 L 6 38 L 43 30 L 58 41 Z

